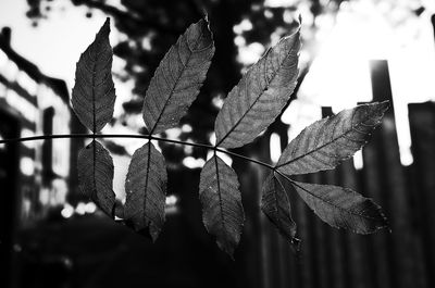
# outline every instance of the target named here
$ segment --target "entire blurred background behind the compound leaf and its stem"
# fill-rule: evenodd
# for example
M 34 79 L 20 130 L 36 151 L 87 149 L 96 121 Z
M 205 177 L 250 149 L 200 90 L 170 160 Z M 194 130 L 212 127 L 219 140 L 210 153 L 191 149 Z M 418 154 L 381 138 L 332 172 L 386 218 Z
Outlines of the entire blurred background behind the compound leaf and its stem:
M 70 108 L 75 63 L 112 18 L 115 117 L 103 133 L 145 133 L 141 101 L 188 25 L 211 22 L 216 52 L 179 128 L 161 137 L 213 141 L 214 118 L 247 67 L 302 17 L 299 84 L 284 113 L 235 152 L 274 163 L 307 125 L 358 103 L 391 108 L 362 152 L 299 180 L 373 198 L 390 231 L 355 235 L 322 223 L 294 195 L 301 252 L 260 213 L 266 171 L 232 160 L 246 224 L 236 261 L 201 223 L 207 151 L 158 143 L 166 158 L 166 224 L 156 243 L 116 224 L 77 188 L 86 141 L 0 146 L 1 287 L 435 287 L 435 2 L 431 0 L 0 0 L 0 139 L 86 133 Z M 105 139 L 124 201 L 129 156 L 144 140 Z

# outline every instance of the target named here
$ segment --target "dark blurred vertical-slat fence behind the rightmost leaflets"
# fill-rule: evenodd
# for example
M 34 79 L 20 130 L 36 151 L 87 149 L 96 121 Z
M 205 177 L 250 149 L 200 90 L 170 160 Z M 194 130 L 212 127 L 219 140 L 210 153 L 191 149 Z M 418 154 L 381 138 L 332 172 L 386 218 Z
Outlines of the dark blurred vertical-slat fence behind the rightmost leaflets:
M 400 161 L 402 151 L 398 141 L 399 120 L 390 63 L 372 60 L 369 64 L 372 101 L 389 100 L 391 104 L 381 127 L 353 161 L 345 161 L 333 171 L 301 175 L 296 179 L 339 185 L 372 198 L 385 212 L 390 230 L 357 235 L 334 229 L 289 193 L 298 236 L 302 239 L 301 254 L 295 256 L 290 245 L 271 227 L 265 216 L 261 216 L 256 233 L 264 264 L 258 274 L 261 285 L 254 287 L 434 287 L 434 102 L 411 102 L 407 107 L 406 120 L 412 142 L 409 159 L 412 161 L 405 165 Z M 333 110 L 304 99 L 295 100 L 289 110 L 294 112 L 294 118 L 288 122 L 290 136 L 310 122 L 333 114 Z M 273 142 L 274 134 L 287 142 L 287 128 L 273 128 L 273 133 L 264 136 L 264 149 L 258 151 L 268 151 L 265 148 Z M 273 149 L 271 145 L 271 152 Z M 274 161 L 273 153 L 263 153 L 262 159 Z M 259 179 L 264 178 L 260 170 L 258 174 Z M 243 187 L 245 177 L 240 177 Z M 250 179 L 245 181 L 250 193 L 261 185 L 249 186 Z M 257 198 L 260 198 L 258 188 Z

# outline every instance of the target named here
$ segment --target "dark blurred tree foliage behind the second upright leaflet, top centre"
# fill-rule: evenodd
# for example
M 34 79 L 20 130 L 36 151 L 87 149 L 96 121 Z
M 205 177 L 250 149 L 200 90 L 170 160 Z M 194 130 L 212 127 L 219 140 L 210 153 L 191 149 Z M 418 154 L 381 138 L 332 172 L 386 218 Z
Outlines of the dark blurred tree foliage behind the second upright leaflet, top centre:
M 27 0 L 27 16 L 35 21 L 49 18 L 53 10 L 50 9 L 55 0 Z M 208 73 L 208 79 L 197 100 L 191 105 L 189 113 L 182 120 L 192 129 L 183 132 L 182 140 L 209 142 L 213 130 L 214 117 L 219 105 L 213 104 L 213 98 L 224 96 L 236 85 L 240 78 L 243 65 L 237 61 L 238 47 L 235 43 L 234 26 L 248 20 L 252 25 L 250 29 L 243 30 L 245 45 L 252 42 L 269 47 L 271 35 L 282 37 L 290 34 L 297 27 L 298 9 L 307 8 L 303 14 L 311 13 L 314 18 L 325 10 L 335 10 L 341 0 L 293 0 L 287 7 L 266 7 L 262 0 L 120 0 L 117 5 L 113 1 L 104 0 L 71 0 L 74 5 L 86 7 L 87 17 L 99 10 L 113 18 L 116 29 L 125 35 L 114 48 L 114 54 L 125 60 L 123 72 L 115 76 L 122 82 L 134 79 L 132 100 L 123 103 L 125 111 L 124 121 L 132 114 L 140 113 L 142 98 L 148 84 L 160 60 L 167 49 L 175 43 L 181 35 L 191 23 L 197 22 L 206 14 L 210 18 L 211 29 L 214 34 L 216 53 Z M 117 1 L 116 1 L 117 2 Z M 314 28 L 314 26 L 313 26 Z M 126 125 L 126 124 L 125 124 Z M 145 133 L 145 130 L 142 130 Z M 164 135 L 163 135 L 164 136 Z M 174 148 L 162 143 L 167 161 L 181 162 L 184 158 L 182 148 Z M 174 151 L 177 150 L 177 151 Z M 206 151 L 194 149 L 192 156 L 204 156 Z

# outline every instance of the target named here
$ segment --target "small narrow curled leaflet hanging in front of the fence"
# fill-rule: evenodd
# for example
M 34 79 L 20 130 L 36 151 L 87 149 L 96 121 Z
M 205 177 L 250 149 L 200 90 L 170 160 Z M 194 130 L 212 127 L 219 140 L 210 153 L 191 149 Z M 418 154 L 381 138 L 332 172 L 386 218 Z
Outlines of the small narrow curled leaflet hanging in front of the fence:
M 290 189 L 295 189 L 293 186 L 290 187 Z M 291 218 L 290 200 L 283 184 L 273 173 L 266 177 L 263 184 L 261 210 L 278 231 L 293 242 L 296 236 L 296 223 Z

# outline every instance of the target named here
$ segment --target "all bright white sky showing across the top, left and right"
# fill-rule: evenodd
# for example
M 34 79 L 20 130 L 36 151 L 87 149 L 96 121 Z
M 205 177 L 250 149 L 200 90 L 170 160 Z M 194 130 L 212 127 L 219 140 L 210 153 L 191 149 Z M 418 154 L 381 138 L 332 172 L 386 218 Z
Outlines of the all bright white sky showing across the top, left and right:
M 266 2 L 275 5 L 284 1 Z M 99 11 L 92 11 L 92 17 L 87 18 L 85 14 L 88 9 L 85 7 L 74 7 L 67 0 L 58 0 L 54 3 L 58 4 L 51 4 L 49 20 L 41 20 L 37 27 L 33 27 L 32 21 L 25 15 L 28 9 L 25 0 L 0 0 L 0 27 L 12 28 L 13 49 L 34 62 L 48 76 L 64 79 L 71 90 L 74 85 L 75 63 L 94 40 L 105 16 Z M 411 11 L 408 8 L 409 3 L 389 0 L 355 0 L 351 4 L 345 2 L 347 8 L 340 9 L 341 13 L 334 28 L 325 29 L 328 30 L 327 37 L 320 41 L 321 51 L 298 96 L 311 103 L 332 105 L 334 112 L 353 107 L 359 101 L 368 101 L 371 99 L 371 88 L 364 65 L 369 59 L 387 59 L 399 142 L 401 150 L 408 151 L 411 139 L 407 123 L 407 104 L 435 99 L 432 93 L 435 90 L 435 82 L 432 80 L 435 73 L 435 45 L 428 20 L 431 13 L 427 12 L 426 16 L 423 14 L 421 17 L 408 15 Z M 426 8 L 435 11 L 435 4 L 426 4 Z M 316 21 L 322 21 L 322 17 Z M 399 28 L 388 26 L 399 22 L 402 23 L 397 26 Z M 244 28 L 249 25 L 238 26 Z M 248 28 L 253 28 L 251 26 Z M 324 24 L 321 26 L 325 27 Z M 112 23 L 112 46 L 120 37 L 122 35 L 113 28 Z M 240 57 L 249 59 L 239 60 L 254 63 L 257 58 L 261 57 L 263 48 L 248 48 L 249 51 L 240 51 Z M 122 66 L 121 60 L 114 58 L 113 71 Z M 337 83 L 343 78 L 347 80 Z M 114 80 L 117 95 L 114 113 L 116 116 L 122 112 L 121 104 L 130 98 L 133 82 L 121 84 Z M 302 124 L 301 128 L 309 123 Z M 409 164 L 411 161 L 402 162 Z

